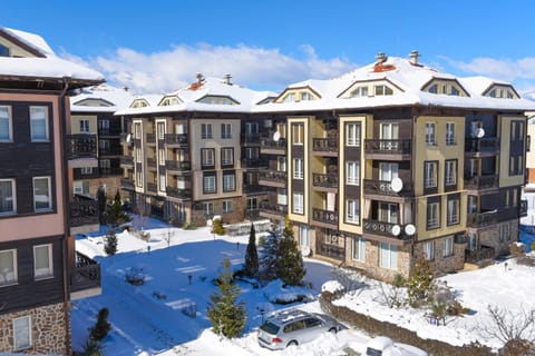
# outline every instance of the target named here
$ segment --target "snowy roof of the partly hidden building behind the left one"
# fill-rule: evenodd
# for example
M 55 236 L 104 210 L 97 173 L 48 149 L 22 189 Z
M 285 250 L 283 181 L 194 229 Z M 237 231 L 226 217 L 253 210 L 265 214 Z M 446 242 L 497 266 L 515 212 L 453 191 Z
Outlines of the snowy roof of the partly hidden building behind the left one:
M 79 95 L 70 98 L 72 112 L 115 112 L 127 108 L 135 96 L 121 88 L 106 83 L 84 89 Z M 97 106 L 101 103 L 105 106 Z

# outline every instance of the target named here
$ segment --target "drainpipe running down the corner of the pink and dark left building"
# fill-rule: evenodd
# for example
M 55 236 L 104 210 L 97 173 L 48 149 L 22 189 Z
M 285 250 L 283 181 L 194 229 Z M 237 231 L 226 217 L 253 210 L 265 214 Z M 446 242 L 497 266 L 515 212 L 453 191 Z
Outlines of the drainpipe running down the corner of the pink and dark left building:
M 64 88 L 58 97 L 58 112 L 59 112 L 59 147 L 61 152 L 61 171 L 64 174 L 61 189 L 64 192 L 64 238 L 62 238 L 62 260 L 64 260 L 64 315 L 65 315 L 65 340 L 66 353 L 70 355 L 72 353 L 71 336 L 70 336 L 70 266 L 68 255 L 68 239 L 70 236 L 70 191 L 69 191 L 69 170 L 66 157 L 66 138 L 67 138 L 67 115 L 65 109 L 65 97 L 69 89 L 69 79 L 62 78 Z M 69 270 L 69 273 L 68 273 Z

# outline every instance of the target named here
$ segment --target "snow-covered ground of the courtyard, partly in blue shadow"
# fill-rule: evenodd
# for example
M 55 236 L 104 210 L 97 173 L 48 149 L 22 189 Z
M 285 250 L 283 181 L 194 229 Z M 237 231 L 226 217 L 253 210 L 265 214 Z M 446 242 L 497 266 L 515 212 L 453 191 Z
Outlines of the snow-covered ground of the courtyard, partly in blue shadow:
M 167 228 L 150 220 L 146 230 L 148 241 L 129 233 L 118 237 L 118 253 L 106 256 L 101 236 L 77 240 L 77 249 L 101 264 L 103 294 L 72 303 L 72 345 L 80 349 L 103 307 L 110 312 L 113 324 L 105 339 L 106 355 L 340 355 L 348 343 L 364 344 L 368 336 L 356 329 L 325 334 L 318 340 L 292 346 L 282 352 L 261 348 L 256 328 L 266 313 L 285 307 L 320 312 L 317 297 L 321 286 L 331 280 L 332 266 L 305 259 L 305 279 L 312 284 L 314 301 L 276 306 L 270 304 L 263 289 L 240 283 L 241 299 L 247 307 L 247 324 L 241 338 L 227 340 L 213 334 L 206 317 L 210 295 L 216 290 L 212 279 L 217 276 L 224 256 L 237 269 L 243 263 L 249 236 L 220 237 L 208 228 L 183 230 Z M 153 227 L 156 227 L 153 229 Z M 103 231 L 100 231 L 103 234 Z M 95 234 L 95 235 L 100 235 Z M 142 286 L 133 286 L 125 275 L 137 270 L 145 276 Z M 360 313 L 396 323 L 416 330 L 421 337 L 438 338 L 454 345 L 478 340 L 490 347 L 500 347 L 497 339 L 479 333 L 478 326 L 488 324 L 487 305 L 497 305 L 517 312 L 533 309 L 535 269 L 514 261 L 497 264 L 477 271 L 458 273 L 441 278 L 453 287 L 463 304 L 473 313 L 447 319 L 446 326 L 430 325 L 424 312 L 406 308 L 390 309 L 382 304 L 378 283 L 364 279 L 366 288 L 337 301 Z M 191 279 L 189 279 L 191 277 Z M 184 310 L 196 306 L 196 317 Z

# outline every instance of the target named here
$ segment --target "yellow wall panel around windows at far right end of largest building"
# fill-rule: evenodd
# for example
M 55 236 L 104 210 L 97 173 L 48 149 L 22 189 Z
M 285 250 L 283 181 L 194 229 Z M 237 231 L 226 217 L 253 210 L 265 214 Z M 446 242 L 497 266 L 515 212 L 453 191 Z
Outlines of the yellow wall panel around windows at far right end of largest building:
M 510 141 L 510 122 L 524 121 L 524 135 L 527 129 L 526 117 L 523 116 L 499 116 L 498 117 L 498 137 L 499 141 L 499 187 L 510 187 L 524 185 L 524 174 L 509 176 L 509 141 Z

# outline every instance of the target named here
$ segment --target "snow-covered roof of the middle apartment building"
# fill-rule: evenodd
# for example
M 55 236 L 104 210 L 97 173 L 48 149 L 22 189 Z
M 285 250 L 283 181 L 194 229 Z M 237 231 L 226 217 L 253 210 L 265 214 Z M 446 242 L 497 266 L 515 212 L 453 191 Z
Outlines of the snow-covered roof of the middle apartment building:
M 158 106 L 163 98 L 169 96 L 176 96 L 181 101 L 175 105 Z M 169 111 L 251 112 L 256 103 L 265 98 L 275 96 L 275 93 L 270 91 L 255 91 L 235 83 L 228 83 L 225 79 L 205 78 L 203 81 L 194 82 L 173 92 L 136 97 L 135 99 L 145 99 L 148 106 L 143 108 L 128 107 L 117 111 L 116 115 Z M 200 100 L 207 98 L 228 98 L 227 101 L 232 101 L 233 105 L 200 102 Z

